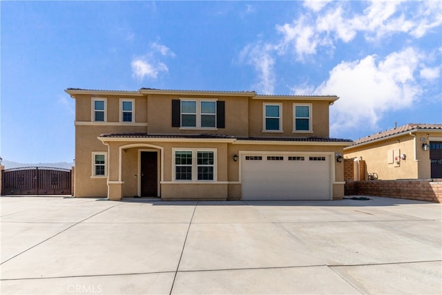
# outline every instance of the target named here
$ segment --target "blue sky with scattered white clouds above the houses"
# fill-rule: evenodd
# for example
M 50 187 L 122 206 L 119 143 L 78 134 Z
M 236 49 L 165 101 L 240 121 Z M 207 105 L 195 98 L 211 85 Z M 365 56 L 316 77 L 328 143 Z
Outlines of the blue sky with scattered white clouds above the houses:
M 66 88 L 338 95 L 330 136 L 442 123 L 442 1 L 1 1 L 3 159 L 71 162 Z

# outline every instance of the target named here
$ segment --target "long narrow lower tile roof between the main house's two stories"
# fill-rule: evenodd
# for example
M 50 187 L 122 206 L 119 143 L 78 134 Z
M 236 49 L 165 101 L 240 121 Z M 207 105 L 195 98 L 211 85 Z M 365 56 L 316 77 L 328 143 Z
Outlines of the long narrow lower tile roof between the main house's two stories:
M 249 141 L 278 141 L 278 142 L 352 142 L 341 138 L 322 137 L 236 137 L 224 134 L 151 134 L 151 133 L 104 133 L 100 137 L 111 138 L 195 138 L 195 139 L 234 139 Z

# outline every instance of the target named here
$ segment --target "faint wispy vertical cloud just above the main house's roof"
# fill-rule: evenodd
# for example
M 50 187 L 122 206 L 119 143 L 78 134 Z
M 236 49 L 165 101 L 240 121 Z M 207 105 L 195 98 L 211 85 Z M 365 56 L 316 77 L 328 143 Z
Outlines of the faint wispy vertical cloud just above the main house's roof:
M 252 65 L 258 72 L 259 82 L 255 87 L 263 94 L 273 94 L 275 88 L 273 51 L 271 44 L 253 44 L 246 46 L 240 54 L 240 58 Z

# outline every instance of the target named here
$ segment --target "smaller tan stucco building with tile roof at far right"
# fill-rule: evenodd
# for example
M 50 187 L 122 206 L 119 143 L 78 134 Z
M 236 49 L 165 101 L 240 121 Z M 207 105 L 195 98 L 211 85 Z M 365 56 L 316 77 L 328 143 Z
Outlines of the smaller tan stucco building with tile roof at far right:
M 442 124 L 407 124 L 356 140 L 345 158 L 379 180 L 442 178 Z M 361 179 L 362 180 L 362 179 Z

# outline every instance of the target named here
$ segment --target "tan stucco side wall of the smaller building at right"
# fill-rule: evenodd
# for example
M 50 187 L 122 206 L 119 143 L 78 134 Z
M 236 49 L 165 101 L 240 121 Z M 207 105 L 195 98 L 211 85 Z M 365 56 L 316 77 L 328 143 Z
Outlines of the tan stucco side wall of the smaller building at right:
M 416 144 L 419 144 L 419 142 Z M 392 155 L 392 151 L 398 151 L 399 163 L 387 163 L 387 158 Z M 425 165 L 425 162 L 430 162 L 428 152 L 426 154 L 422 152 L 423 150 L 419 146 L 416 146 L 415 149 L 414 137 L 406 134 L 372 144 L 349 147 L 345 149 L 345 158 L 362 157 L 367 166 L 367 173 L 377 173 L 379 180 L 428 178 L 429 174 L 425 175 L 423 171 L 421 173 L 418 171 L 418 165 Z M 405 154 L 405 160 L 400 158 L 403 154 Z M 425 159 L 425 155 L 427 159 Z M 430 168 L 428 168 L 428 171 L 430 171 Z

